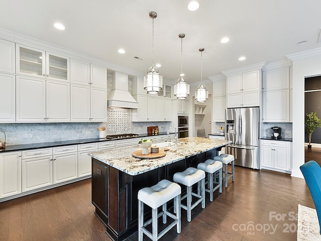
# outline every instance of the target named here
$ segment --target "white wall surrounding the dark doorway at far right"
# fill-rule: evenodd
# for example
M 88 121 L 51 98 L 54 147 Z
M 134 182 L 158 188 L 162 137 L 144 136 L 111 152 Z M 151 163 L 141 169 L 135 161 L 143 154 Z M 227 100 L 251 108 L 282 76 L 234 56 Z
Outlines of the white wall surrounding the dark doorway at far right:
M 288 57 L 293 61 L 293 161 L 291 176 L 303 178 L 299 167 L 304 164 L 304 78 L 321 75 L 321 55 L 305 58 L 300 58 L 299 55 Z

